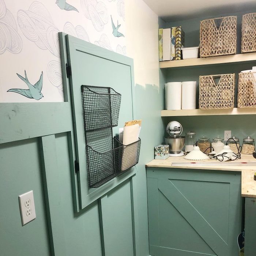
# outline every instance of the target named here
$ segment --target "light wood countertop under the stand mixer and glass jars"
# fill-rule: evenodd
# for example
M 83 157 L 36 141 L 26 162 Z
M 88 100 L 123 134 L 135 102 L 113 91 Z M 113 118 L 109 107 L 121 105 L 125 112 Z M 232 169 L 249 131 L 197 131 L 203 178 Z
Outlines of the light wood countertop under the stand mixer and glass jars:
M 172 163 L 182 163 L 182 165 L 172 166 Z M 191 162 L 207 162 L 213 163 L 213 165 L 191 165 Z M 256 159 L 252 155 L 241 155 L 241 159 L 232 161 L 233 163 L 241 162 L 256 162 Z M 188 165 L 184 165 L 188 163 Z M 183 157 L 169 157 L 165 160 L 154 159 L 147 163 L 146 167 L 162 167 L 162 168 L 180 168 L 180 169 L 204 169 L 204 170 L 220 170 L 220 171 L 236 171 L 241 172 L 241 195 L 243 197 L 256 197 L 256 181 L 253 180 L 254 173 L 256 172 L 256 166 L 246 166 L 244 165 L 214 165 L 218 163 L 217 160 L 202 160 L 202 161 L 191 161 L 185 160 Z

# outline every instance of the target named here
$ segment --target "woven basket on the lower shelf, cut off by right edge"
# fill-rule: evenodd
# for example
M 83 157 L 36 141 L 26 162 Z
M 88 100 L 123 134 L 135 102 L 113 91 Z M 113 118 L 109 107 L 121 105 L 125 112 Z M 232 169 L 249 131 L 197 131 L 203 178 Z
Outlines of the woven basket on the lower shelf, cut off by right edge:
M 256 72 L 239 73 L 238 75 L 238 108 L 256 107 Z

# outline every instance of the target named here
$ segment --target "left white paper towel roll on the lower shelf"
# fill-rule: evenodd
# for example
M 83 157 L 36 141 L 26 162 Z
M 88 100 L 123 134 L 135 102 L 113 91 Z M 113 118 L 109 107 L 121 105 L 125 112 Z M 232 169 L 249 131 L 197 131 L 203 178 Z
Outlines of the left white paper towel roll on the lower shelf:
M 167 110 L 181 109 L 181 82 L 169 82 L 166 84 Z

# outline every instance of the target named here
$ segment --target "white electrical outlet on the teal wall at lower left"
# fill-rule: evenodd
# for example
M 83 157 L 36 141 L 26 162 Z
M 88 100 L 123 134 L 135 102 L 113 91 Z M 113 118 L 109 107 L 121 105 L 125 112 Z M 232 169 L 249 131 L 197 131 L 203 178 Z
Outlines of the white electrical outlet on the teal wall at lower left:
M 19 208 L 22 226 L 35 219 L 35 204 L 33 190 L 19 195 Z

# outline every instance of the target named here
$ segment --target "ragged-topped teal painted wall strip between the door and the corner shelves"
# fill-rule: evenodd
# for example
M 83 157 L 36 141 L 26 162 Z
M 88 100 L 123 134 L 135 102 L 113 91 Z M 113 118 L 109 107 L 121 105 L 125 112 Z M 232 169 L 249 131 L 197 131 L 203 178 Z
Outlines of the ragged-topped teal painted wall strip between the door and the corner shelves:
M 138 173 L 134 178 L 138 202 L 139 248 L 137 255 L 148 255 L 148 217 L 147 217 L 147 183 L 145 163 L 154 158 L 154 146 L 161 141 L 163 123 L 160 111 L 163 108 L 163 87 L 156 85 L 136 84 L 135 86 L 135 119 L 142 119 L 140 138 L 142 140 L 140 161 L 136 166 Z

